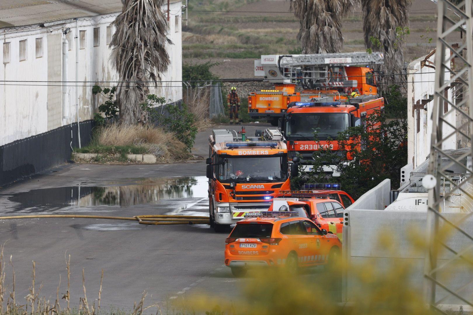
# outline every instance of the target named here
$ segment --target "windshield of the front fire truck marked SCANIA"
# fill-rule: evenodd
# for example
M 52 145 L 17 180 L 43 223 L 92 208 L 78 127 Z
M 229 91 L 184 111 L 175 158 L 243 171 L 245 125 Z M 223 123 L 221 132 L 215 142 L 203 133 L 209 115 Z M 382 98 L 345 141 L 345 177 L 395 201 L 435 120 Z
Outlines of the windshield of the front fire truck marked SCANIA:
M 219 181 L 273 182 L 288 179 L 287 155 L 222 156 L 219 155 L 215 173 Z

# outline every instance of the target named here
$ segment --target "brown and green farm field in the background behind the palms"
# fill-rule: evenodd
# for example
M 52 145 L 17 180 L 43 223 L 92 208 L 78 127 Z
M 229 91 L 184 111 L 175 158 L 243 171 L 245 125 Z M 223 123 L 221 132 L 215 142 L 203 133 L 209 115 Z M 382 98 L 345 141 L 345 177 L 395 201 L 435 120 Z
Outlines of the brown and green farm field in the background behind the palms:
M 436 11 L 430 0 L 413 1 L 411 34 L 406 35 L 408 60 L 435 48 Z M 252 78 L 254 60 L 262 54 L 298 53 L 298 30 L 286 0 L 236 0 L 231 6 L 226 0 L 202 0 L 190 6 L 189 25 L 183 26 L 184 62 L 218 62 L 212 72 L 219 77 Z M 343 35 L 343 51 L 365 51 L 361 8 L 346 16 Z

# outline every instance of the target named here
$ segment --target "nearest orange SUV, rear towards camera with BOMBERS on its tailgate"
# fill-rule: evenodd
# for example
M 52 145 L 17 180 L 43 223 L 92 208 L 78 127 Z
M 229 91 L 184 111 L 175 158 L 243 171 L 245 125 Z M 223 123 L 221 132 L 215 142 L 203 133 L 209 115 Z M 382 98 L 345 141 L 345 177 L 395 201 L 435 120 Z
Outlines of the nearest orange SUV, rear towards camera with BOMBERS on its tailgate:
M 342 243 L 297 212 L 248 213 L 225 240 L 225 265 L 235 276 L 253 266 L 299 267 L 333 264 Z

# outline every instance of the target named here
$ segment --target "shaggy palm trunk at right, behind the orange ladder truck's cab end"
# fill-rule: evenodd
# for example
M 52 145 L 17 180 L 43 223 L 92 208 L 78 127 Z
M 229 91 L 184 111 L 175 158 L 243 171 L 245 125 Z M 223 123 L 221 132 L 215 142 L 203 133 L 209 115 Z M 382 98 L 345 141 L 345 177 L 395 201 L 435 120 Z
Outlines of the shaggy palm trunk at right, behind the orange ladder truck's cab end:
M 409 8 L 412 0 L 361 0 L 365 45 L 372 51 L 385 52 L 385 74 L 403 73 L 404 36 L 409 34 Z M 402 76 L 384 77 L 386 82 L 402 82 Z

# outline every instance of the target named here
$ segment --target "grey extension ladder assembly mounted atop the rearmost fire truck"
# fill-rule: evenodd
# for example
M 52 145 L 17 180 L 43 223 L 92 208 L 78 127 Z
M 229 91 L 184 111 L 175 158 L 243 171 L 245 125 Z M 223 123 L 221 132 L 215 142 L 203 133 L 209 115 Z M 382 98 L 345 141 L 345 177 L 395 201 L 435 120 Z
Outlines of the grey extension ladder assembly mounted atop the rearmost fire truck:
M 301 84 L 304 89 L 354 87 L 345 67 L 384 64 L 381 52 L 342 52 L 307 55 L 262 55 L 256 60 L 264 69 L 264 78 L 275 84 Z M 255 75 L 262 75 L 256 72 Z

